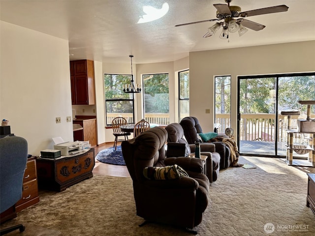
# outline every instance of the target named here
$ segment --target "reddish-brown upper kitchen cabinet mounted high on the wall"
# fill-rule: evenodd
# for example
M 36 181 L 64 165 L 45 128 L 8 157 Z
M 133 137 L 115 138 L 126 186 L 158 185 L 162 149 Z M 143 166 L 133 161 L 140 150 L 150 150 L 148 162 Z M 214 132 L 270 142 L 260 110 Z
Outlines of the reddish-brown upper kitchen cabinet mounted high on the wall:
M 95 105 L 93 60 L 70 61 L 72 105 Z

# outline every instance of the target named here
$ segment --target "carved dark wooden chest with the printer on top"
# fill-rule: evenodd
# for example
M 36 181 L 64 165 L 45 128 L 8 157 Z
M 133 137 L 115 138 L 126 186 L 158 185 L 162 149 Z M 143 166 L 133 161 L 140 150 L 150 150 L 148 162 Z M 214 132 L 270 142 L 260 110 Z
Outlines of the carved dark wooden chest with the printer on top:
M 58 159 L 37 158 L 38 187 L 63 191 L 84 179 L 93 177 L 94 148 L 83 154 Z

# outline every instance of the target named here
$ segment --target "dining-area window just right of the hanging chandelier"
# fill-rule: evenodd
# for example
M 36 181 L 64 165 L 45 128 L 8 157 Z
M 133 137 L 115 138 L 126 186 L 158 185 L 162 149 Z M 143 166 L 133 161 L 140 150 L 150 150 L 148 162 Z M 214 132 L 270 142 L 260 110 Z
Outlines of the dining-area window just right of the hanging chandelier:
M 142 75 L 144 118 L 149 123 L 169 124 L 169 78 L 166 74 Z

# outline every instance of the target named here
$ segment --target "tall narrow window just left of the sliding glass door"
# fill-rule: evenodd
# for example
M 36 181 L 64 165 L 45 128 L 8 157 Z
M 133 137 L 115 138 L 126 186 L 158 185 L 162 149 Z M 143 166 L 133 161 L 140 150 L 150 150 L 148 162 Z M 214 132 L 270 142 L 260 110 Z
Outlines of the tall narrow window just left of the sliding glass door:
M 231 127 L 231 76 L 215 77 L 215 122 L 219 133 Z M 215 125 L 215 127 L 217 127 Z M 218 128 L 218 127 L 217 127 Z

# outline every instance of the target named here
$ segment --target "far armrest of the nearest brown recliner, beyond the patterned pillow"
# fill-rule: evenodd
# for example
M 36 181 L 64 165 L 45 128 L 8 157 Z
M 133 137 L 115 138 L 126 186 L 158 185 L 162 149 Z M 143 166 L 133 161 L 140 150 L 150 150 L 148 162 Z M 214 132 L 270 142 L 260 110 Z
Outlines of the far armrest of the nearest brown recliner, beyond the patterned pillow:
M 179 165 L 185 171 L 192 171 L 196 173 L 202 173 L 203 162 L 199 158 L 190 157 L 168 157 L 164 160 L 164 164 L 167 166 Z

